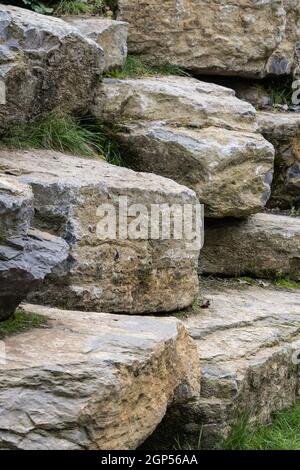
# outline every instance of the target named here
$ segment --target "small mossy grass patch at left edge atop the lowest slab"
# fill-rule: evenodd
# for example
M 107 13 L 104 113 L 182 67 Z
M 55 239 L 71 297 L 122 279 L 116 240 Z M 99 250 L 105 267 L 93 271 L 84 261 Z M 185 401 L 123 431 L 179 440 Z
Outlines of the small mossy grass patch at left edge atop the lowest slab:
M 47 324 L 47 317 L 31 312 L 25 313 L 23 310 L 18 309 L 11 318 L 0 322 L 0 339 L 23 333 L 32 328 L 43 328 Z

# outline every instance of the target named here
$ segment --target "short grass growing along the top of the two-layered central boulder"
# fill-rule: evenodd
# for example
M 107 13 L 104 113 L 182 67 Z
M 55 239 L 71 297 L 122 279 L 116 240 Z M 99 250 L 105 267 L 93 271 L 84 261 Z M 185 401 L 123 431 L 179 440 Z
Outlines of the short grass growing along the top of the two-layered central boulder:
M 104 73 L 106 78 L 126 79 L 126 78 L 142 78 L 165 75 L 179 75 L 181 77 L 189 77 L 190 75 L 177 65 L 165 64 L 158 66 L 148 65 L 141 57 L 128 54 L 124 67 L 113 68 Z

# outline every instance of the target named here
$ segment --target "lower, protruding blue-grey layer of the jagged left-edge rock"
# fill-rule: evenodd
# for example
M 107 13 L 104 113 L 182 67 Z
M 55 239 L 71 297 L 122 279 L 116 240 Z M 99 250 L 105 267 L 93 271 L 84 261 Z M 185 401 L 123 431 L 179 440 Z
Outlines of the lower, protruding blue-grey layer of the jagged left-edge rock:
M 68 253 L 64 240 L 38 230 L 0 240 L 0 321 L 9 318 Z

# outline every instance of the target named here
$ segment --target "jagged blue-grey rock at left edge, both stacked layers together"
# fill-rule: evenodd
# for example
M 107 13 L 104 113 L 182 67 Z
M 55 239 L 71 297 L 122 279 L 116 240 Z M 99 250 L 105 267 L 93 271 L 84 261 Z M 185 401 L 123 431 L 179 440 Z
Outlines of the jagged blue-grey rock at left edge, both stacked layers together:
M 64 240 L 30 230 L 33 215 L 30 186 L 0 175 L 0 321 L 68 257 Z

